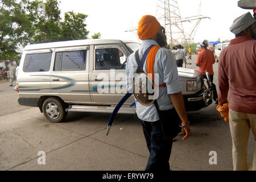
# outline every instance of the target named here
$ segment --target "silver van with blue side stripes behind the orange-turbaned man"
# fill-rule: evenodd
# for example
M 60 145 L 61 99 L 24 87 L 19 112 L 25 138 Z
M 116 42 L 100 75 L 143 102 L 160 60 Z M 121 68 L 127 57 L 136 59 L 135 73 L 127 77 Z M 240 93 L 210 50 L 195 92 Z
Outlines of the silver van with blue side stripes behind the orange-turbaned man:
M 127 57 L 139 46 L 103 39 L 26 46 L 17 77 L 18 102 L 39 107 L 51 122 L 63 121 L 69 111 L 112 113 L 127 92 Z M 178 73 L 187 111 L 211 104 L 209 81 L 193 69 L 178 68 Z M 133 102 L 130 97 L 119 113 L 135 113 Z

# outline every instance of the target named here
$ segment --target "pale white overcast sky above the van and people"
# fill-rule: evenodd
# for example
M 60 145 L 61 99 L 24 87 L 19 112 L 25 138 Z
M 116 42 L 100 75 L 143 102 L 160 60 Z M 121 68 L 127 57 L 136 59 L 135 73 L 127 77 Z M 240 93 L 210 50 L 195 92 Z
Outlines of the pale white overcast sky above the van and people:
M 177 0 L 182 18 L 198 15 L 200 0 Z M 170 1 L 171 2 L 171 1 Z M 137 31 L 126 32 L 138 26 L 143 15 L 156 16 L 158 0 L 61 0 L 61 14 L 67 11 L 83 13 L 89 36 L 101 32 L 102 39 L 125 39 L 138 41 Z M 238 0 L 201 0 L 202 19 L 194 42 L 201 40 L 221 41 L 233 39 L 229 27 L 235 18 L 253 10 L 241 9 Z M 195 21 L 183 24 L 189 32 Z

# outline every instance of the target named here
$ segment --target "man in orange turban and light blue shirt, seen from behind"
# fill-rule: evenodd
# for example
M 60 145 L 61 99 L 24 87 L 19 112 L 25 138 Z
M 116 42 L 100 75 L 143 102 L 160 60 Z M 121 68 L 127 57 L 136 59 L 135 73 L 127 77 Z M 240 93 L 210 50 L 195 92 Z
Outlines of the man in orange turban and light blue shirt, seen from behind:
M 137 117 L 150 153 L 145 170 L 170 171 L 173 138 L 181 128 L 185 135 L 183 140 L 190 136 L 177 64 L 173 53 L 164 48 L 167 44 L 165 29 L 154 16 L 145 15 L 139 20 L 137 34 L 142 40 L 137 57 L 143 63 L 143 72 L 149 76 L 152 74 L 151 79 L 158 84 L 155 84 L 155 92 L 158 93 L 155 97 L 157 105 L 145 106 L 134 98 Z M 135 52 L 132 53 L 126 64 L 126 85 L 129 93 L 133 93 L 133 78 L 138 73 L 135 55 Z

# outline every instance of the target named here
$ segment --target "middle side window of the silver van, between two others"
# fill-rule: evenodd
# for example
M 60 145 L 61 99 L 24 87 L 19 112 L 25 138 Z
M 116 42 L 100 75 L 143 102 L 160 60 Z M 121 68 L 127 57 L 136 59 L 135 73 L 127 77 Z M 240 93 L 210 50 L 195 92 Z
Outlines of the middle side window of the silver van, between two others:
M 54 71 L 85 71 L 86 50 L 56 52 Z

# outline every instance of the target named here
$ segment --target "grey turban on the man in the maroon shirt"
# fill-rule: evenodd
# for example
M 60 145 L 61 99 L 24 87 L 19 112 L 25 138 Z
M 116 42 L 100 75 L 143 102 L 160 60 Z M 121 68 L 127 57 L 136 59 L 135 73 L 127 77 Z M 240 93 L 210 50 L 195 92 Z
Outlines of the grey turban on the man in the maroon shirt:
M 253 18 L 253 16 L 251 16 L 250 12 L 248 12 L 246 14 L 243 14 L 242 16 L 239 16 L 237 19 L 235 19 L 233 24 L 229 28 L 229 30 L 233 34 L 239 34 L 254 22 L 255 22 L 255 19 Z

